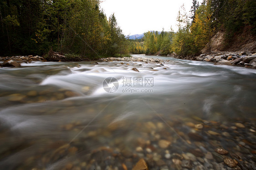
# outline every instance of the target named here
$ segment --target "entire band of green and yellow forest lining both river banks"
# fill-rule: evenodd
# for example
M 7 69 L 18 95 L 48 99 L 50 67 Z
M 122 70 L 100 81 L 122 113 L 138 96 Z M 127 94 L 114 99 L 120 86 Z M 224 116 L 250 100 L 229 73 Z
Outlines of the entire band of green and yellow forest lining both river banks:
M 220 30 L 225 45 L 241 33 L 255 37 L 256 1 L 193 0 L 189 12 L 180 7 L 177 21 L 175 32 L 149 31 L 142 40 L 128 40 L 100 0 L 1 0 L 0 55 L 197 55 L 206 45 L 210 51 L 210 38 Z

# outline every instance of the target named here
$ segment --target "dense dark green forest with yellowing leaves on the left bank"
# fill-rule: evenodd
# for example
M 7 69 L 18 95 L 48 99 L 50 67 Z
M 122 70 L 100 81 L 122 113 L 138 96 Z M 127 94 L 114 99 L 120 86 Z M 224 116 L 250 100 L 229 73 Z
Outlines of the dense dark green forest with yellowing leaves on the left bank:
M 107 19 L 99 5 L 99 0 L 1 0 L 0 55 L 127 54 L 115 15 Z

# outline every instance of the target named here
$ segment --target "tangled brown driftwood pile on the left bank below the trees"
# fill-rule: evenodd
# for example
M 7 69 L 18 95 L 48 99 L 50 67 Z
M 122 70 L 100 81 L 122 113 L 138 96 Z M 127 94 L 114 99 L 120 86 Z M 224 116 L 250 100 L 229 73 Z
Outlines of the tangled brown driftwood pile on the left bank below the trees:
M 82 57 L 82 58 L 81 58 Z M 63 53 L 58 53 L 53 50 L 50 50 L 48 53 L 47 61 L 88 61 L 86 56 L 65 56 Z

